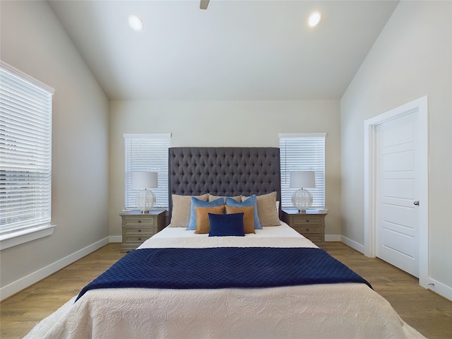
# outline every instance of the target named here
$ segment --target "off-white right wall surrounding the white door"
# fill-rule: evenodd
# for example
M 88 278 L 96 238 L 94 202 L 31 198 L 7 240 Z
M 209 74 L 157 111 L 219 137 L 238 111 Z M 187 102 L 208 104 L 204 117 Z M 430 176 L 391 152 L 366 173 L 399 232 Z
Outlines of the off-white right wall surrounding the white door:
M 341 100 L 342 234 L 364 244 L 364 120 L 429 100 L 430 278 L 452 289 L 452 2 L 401 1 Z M 436 291 L 438 292 L 438 291 Z

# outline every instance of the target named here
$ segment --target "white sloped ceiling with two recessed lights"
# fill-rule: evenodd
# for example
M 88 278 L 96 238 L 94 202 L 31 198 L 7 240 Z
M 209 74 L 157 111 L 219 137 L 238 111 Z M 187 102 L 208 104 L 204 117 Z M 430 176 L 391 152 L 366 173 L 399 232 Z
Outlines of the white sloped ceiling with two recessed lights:
M 49 4 L 110 100 L 307 100 L 343 95 L 398 1 Z

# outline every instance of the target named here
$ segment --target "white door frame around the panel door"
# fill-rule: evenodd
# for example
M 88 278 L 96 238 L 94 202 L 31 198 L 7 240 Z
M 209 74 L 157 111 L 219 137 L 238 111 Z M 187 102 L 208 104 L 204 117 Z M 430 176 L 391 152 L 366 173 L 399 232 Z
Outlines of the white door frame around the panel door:
M 429 196 L 428 196 L 428 102 L 427 95 L 364 121 L 364 255 L 376 256 L 376 126 L 419 111 L 417 151 L 420 155 L 419 196 L 419 281 L 427 287 L 429 275 Z

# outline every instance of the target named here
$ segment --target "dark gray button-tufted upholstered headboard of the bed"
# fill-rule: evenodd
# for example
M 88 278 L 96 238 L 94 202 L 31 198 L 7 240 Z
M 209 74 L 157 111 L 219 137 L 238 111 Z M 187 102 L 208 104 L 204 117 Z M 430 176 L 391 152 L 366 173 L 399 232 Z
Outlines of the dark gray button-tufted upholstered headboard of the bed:
M 175 147 L 168 157 L 169 218 L 172 194 L 250 196 L 277 192 L 281 201 L 280 149 Z

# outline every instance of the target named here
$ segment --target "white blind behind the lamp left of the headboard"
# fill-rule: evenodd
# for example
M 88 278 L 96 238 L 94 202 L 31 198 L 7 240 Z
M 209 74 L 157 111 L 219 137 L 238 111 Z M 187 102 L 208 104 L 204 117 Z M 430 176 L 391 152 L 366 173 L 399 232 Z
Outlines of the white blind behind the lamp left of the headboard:
M 125 207 L 136 208 L 137 189 L 132 189 L 132 172 L 157 172 L 158 187 L 155 194 L 155 207 L 168 207 L 168 149 L 171 146 L 171 133 L 124 134 L 126 162 Z

